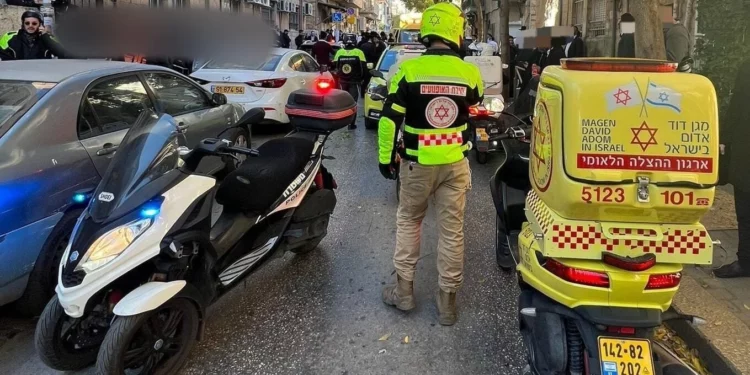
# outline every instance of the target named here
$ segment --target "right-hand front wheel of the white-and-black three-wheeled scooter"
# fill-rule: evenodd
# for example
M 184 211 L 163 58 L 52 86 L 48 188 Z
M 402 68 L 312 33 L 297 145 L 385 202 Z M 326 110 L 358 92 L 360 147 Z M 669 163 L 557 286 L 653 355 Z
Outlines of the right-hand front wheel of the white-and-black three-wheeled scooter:
M 185 298 L 173 298 L 142 314 L 117 317 L 99 350 L 97 372 L 174 374 L 188 359 L 199 321 L 197 306 Z

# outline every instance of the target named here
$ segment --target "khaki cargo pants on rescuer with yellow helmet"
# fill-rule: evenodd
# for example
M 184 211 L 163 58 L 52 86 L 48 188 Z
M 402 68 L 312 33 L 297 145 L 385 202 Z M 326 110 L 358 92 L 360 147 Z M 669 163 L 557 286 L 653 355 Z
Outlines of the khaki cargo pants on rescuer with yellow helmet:
M 463 282 L 464 270 L 464 209 L 466 193 L 471 189 L 469 160 L 446 165 L 421 165 L 401 161 L 401 191 L 396 217 L 396 252 L 393 264 L 398 275 L 414 280 L 419 259 L 422 220 L 427 202 L 434 196 L 437 211 L 438 284 L 454 293 Z

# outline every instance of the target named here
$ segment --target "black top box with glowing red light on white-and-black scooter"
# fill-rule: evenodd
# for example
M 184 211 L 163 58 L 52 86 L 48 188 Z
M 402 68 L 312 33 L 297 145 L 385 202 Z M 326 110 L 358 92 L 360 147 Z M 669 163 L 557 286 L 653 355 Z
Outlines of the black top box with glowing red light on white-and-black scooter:
M 357 102 L 343 90 L 332 89 L 333 81 L 319 80 L 313 89 L 289 95 L 286 114 L 299 130 L 328 134 L 354 121 Z

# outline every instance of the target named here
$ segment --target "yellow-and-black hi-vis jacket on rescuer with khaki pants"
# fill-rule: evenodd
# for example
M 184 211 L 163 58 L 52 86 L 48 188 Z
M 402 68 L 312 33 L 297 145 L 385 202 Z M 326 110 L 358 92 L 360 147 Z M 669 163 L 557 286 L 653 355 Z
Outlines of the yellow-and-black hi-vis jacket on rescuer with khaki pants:
M 424 165 L 451 164 L 468 151 L 469 107 L 484 95 L 479 68 L 451 50 L 431 49 L 404 61 L 391 79 L 378 123 L 378 159 L 394 160 L 404 122 L 402 157 Z

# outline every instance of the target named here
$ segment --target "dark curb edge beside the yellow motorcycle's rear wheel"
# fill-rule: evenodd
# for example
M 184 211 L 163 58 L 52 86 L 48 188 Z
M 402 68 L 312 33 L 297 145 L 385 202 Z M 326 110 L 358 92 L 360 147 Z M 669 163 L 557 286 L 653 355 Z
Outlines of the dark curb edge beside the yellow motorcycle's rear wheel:
M 675 307 L 671 307 L 681 312 Z M 673 320 L 666 323 L 682 338 L 688 347 L 697 350 L 701 359 L 706 363 L 708 370 L 714 375 L 742 375 L 742 373 L 711 343 L 697 327 L 685 320 Z

